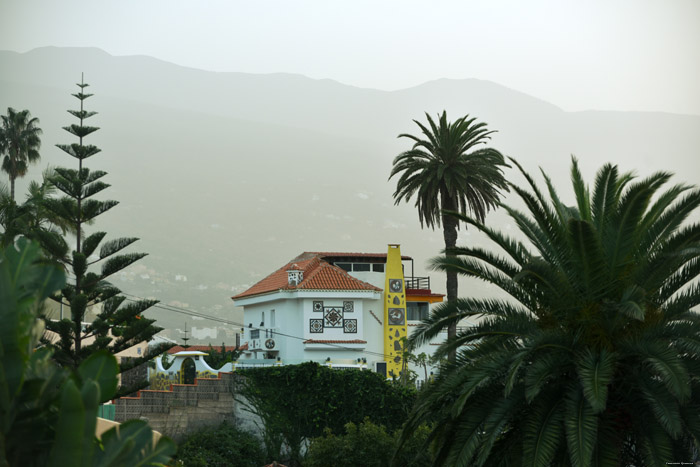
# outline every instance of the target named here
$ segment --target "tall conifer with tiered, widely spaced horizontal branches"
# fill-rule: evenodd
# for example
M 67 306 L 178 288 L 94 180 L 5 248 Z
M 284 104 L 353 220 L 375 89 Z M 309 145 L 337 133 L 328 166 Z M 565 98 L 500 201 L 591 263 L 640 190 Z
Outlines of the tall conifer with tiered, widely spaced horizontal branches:
M 46 343 L 54 347 L 54 358 L 62 365 L 76 368 L 98 349 L 108 349 L 116 354 L 129 349 L 151 337 L 162 328 L 154 325 L 153 319 L 143 316 L 143 312 L 158 303 L 156 300 L 129 300 L 107 279 L 118 271 L 146 256 L 145 253 L 122 253 L 137 238 L 118 238 L 102 242 L 106 233 L 94 232 L 87 235 L 86 225 L 118 204 L 117 201 L 99 201 L 94 195 L 109 187 L 102 181 L 106 172 L 90 170 L 84 166 L 87 158 L 100 152 L 94 145 L 84 144 L 83 140 L 99 128 L 85 125 L 85 120 L 97 112 L 84 109 L 84 101 L 92 94 L 86 94 L 88 85 L 81 79 L 80 91 L 73 94 L 80 101 L 80 110 L 68 112 L 79 123 L 64 127 L 64 130 L 78 138 L 77 143 L 59 144 L 61 150 L 77 159 L 78 168 L 59 167 L 52 178 L 62 197 L 51 198 L 47 207 L 56 216 L 73 227 L 75 249 L 70 250 L 68 241 L 58 233 L 40 233 L 41 243 L 48 255 L 64 265 L 72 281 L 55 297 L 62 305 L 70 307 L 70 319 L 48 321 L 47 329 L 53 331 L 53 339 L 47 333 Z M 102 243 L 101 247 L 100 243 Z M 95 318 L 86 322 L 88 310 Z M 120 372 L 124 372 L 166 350 L 166 346 L 147 350 L 138 358 L 122 359 Z M 126 360 L 126 361 L 125 361 Z M 143 386 L 145 382 L 137 386 Z M 138 387 L 122 388 L 120 394 L 133 392 Z

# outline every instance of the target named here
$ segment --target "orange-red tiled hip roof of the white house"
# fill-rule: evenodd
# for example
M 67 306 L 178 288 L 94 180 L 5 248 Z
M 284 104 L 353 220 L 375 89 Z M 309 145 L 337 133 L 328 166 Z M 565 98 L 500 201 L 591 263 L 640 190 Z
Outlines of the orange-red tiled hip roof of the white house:
M 386 255 L 385 255 L 386 256 Z M 287 271 L 292 267 L 304 271 L 298 285 L 289 285 Z M 278 290 L 373 290 L 382 289 L 352 277 L 343 269 L 321 259 L 320 253 L 302 253 L 248 290 L 231 297 L 233 300 L 277 292 Z

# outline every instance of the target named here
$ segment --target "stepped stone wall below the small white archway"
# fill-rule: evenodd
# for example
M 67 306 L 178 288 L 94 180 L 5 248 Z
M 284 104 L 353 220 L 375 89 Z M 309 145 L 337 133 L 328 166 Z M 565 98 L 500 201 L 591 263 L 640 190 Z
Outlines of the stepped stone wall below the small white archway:
M 147 420 L 151 428 L 176 440 L 222 422 L 251 431 L 255 423 L 234 399 L 241 383 L 239 375 L 219 373 L 218 378 L 197 378 L 195 384 L 173 384 L 170 391 L 141 390 L 137 397 L 115 401 L 115 421 Z

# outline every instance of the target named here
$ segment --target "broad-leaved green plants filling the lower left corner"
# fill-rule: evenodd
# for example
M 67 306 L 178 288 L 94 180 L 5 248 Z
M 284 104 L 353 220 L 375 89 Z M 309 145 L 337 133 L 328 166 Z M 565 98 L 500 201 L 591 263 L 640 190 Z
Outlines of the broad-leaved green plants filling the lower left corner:
M 117 362 L 95 352 L 77 370 L 37 349 L 41 305 L 65 284 L 65 274 L 41 259 L 39 246 L 20 239 L 0 254 L 0 465 L 122 466 L 169 461 L 175 445 L 140 420 L 95 437 L 97 408 L 114 397 Z

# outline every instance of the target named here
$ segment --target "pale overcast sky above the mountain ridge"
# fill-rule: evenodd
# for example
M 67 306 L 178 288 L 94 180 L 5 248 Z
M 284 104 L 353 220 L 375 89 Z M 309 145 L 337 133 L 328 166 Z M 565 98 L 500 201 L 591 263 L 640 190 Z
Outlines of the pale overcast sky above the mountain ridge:
M 0 49 L 47 45 L 384 90 L 480 78 L 565 110 L 700 115 L 700 0 L 0 0 Z

